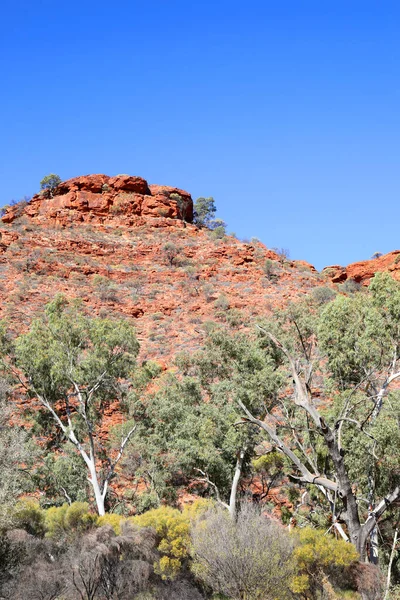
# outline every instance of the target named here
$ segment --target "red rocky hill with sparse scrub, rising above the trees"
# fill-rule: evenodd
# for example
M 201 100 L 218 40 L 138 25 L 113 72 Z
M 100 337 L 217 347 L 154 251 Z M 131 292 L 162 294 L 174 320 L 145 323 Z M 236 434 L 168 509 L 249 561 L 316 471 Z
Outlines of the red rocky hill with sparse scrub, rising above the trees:
M 141 358 L 167 365 L 202 344 L 204 324 L 251 326 L 254 318 L 376 271 L 400 276 L 400 251 L 317 273 L 258 240 L 192 224 L 193 201 L 140 177 L 88 175 L 9 207 L 0 227 L 0 317 L 24 329 L 62 292 L 93 314 L 132 319 Z

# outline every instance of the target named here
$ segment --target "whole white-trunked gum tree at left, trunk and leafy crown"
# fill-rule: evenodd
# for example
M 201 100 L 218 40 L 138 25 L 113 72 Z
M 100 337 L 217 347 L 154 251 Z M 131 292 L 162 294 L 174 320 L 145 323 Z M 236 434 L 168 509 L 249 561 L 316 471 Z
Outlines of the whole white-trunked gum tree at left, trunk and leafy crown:
M 82 457 L 100 515 L 110 479 L 135 430 L 126 421 L 118 447 L 107 449 L 99 436 L 104 409 L 123 399 L 121 381 L 135 367 L 138 351 L 126 320 L 90 318 L 62 296 L 15 343 L 21 383 Z

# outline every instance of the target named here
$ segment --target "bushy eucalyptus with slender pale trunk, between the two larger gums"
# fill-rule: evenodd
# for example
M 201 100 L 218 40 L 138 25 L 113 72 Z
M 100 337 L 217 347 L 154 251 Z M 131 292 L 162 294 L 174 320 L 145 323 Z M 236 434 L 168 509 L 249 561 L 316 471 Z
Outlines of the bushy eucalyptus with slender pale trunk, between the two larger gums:
M 201 484 L 236 515 L 238 491 L 251 469 L 257 428 L 237 427 L 237 399 L 276 402 L 280 374 L 258 340 L 212 327 L 204 348 L 177 359 L 151 398 L 133 400 L 138 423 L 128 461 L 158 504 L 176 487 Z

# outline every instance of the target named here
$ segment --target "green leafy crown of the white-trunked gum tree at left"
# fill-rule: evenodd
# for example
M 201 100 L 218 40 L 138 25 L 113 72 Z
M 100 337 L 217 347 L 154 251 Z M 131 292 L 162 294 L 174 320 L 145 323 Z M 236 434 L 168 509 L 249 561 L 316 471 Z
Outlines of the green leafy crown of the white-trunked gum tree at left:
M 104 373 L 96 396 L 117 393 L 117 379 L 134 368 L 139 344 L 125 320 L 92 319 L 79 307 L 57 296 L 45 317 L 16 341 L 18 366 L 29 377 L 33 394 L 50 403 L 67 398 L 71 379 L 85 390 Z

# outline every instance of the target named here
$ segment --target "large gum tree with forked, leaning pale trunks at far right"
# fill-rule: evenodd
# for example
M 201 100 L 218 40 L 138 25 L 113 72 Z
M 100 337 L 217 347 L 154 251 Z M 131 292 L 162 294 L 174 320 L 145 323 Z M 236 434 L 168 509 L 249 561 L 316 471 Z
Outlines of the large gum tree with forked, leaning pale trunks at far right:
M 289 458 L 293 481 L 318 488 L 361 559 L 377 562 L 377 523 L 400 498 L 400 285 L 378 274 L 368 290 L 277 319 L 259 331 L 292 392 L 277 416 L 239 400 L 245 420 Z

